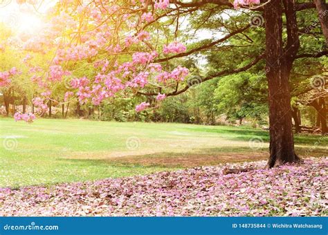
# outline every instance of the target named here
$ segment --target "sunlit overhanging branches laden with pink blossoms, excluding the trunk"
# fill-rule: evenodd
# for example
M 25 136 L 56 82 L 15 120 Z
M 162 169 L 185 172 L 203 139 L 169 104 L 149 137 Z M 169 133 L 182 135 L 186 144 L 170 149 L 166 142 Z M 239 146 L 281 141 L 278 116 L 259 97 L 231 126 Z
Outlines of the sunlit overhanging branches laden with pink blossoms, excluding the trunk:
M 238 4 L 245 5 L 246 2 L 238 1 Z M 252 1 L 252 4 L 256 2 Z M 37 115 L 46 112 L 47 102 L 53 100 L 53 88 L 60 83 L 69 90 L 64 94 L 64 102 L 69 102 L 76 95 L 80 104 L 95 106 L 118 93 L 147 94 L 152 91 L 156 100 L 161 101 L 168 95 L 179 93 L 177 89 L 181 84 L 186 84 L 188 89 L 188 68 L 181 65 L 167 68 L 165 63 L 180 55 L 197 53 L 204 47 L 188 51 L 179 38 L 166 41 L 154 33 L 154 27 L 165 17 L 176 20 L 179 26 L 177 18 L 183 12 L 188 14 L 198 8 L 182 10 L 183 6 L 170 4 L 169 0 L 60 1 L 54 7 L 55 13 L 44 32 L 24 45 L 24 50 L 31 53 L 53 53 L 52 48 L 55 48 L 53 58 L 43 68 L 34 64 L 29 54 L 23 61 L 29 68 L 31 81 L 42 91 L 39 97 L 33 99 Z M 248 28 L 230 32 L 210 46 Z M 91 75 L 80 76 L 84 68 L 93 71 Z M 245 70 L 247 68 L 245 66 Z M 170 91 L 170 88 L 174 90 Z M 153 92 L 156 89 L 158 91 Z M 143 102 L 136 106 L 136 111 L 143 111 L 149 106 L 149 103 Z M 18 113 L 15 119 L 30 122 L 22 115 Z

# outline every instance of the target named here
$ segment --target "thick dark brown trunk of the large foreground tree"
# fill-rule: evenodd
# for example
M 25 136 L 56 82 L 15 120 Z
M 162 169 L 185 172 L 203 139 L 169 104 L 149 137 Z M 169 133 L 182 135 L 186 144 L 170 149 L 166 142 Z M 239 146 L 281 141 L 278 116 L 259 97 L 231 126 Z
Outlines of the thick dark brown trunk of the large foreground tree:
M 264 6 L 266 21 L 266 78 L 268 79 L 268 101 L 270 122 L 270 158 L 267 167 L 277 167 L 286 162 L 298 162 L 294 151 L 291 122 L 291 95 L 289 73 L 298 41 L 295 36 L 297 23 L 295 14 L 290 15 L 291 0 L 285 0 L 286 17 L 289 22 L 287 45 L 291 51 L 284 52 L 282 42 L 282 2 L 272 0 Z M 289 18 L 289 19 L 288 19 Z M 295 26 L 293 26 L 295 24 Z M 291 44 L 291 45 L 290 45 Z

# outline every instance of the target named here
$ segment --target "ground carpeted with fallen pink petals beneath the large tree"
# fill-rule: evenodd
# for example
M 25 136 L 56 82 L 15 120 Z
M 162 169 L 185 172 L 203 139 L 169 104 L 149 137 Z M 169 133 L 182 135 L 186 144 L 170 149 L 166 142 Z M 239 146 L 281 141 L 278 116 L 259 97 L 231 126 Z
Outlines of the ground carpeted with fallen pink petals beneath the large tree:
M 0 189 L 0 216 L 327 216 L 328 158 L 224 175 L 197 167 L 149 176 Z

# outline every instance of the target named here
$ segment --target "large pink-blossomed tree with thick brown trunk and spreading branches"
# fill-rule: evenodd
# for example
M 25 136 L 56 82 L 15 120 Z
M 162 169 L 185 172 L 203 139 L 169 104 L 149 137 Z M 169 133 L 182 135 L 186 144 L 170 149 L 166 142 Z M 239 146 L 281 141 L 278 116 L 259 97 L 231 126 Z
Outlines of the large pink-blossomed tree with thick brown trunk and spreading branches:
M 43 91 L 34 98 L 33 104 L 39 113 L 43 113 L 47 102 L 64 104 L 75 96 L 80 104 L 97 106 L 116 95 L 143 95 L 145 101 L 135 108 L 140 112 L 154 105 L 147 97 L 161 102 L 166 97 L 188 91 L 194 75 L 182 65 L 182 58 L 214 48 L 235 35 L 244 35 L 253 26 L 252 22 L 239 22 L 235 30 L 226 30 L 219 39 L 189 47 L 189 41 L 180 37 L 183 31 L 181 18 L 215 6 L 222 11 L 264 12 L 260 19 L 265 21 L 266 48 L 242 66 L 198 76 L 197 83 L 246 71 L 265 59 L 271 125 L 268 167 L 298 162 L 291 126 L 289 75 L 295 59 L 316 56 L 298 55 L 300 40 L 296 19 L 297 11 L 315 8 L 314 4 L 292 0 L 271 0 L 261 4 L 257 0 L 96 0 L 83 3 L 61 0 L 51 10 L 53 16 L 45 30 L 24 44 L 25 51 L 53 54 L 46 66 L 26 58 L 31 80 Z M 287 19 L 285 44 L 283 14 Z M 9 79 L 3 75 L 2 86 L 8 86 Z M 62 101 L 53 97 L 58 84 L 64 84 L 66 88 Z M 17 114 L 16 119 L 29 122 L 34 118 L 21 115 Z

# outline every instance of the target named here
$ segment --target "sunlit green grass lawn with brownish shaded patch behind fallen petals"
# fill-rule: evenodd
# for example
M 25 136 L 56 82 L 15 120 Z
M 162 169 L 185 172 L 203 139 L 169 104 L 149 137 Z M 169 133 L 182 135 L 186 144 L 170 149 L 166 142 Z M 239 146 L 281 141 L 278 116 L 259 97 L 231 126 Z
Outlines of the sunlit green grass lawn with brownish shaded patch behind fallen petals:
M 89 120 L 0 118 L 0 187 L 133 176 L 183 167 L 268 158 L 268 132 Z M 254 143 L 251 138 L 261 138 Z M 327 156 L 328 138 L 295 136 L 300 156 Z

